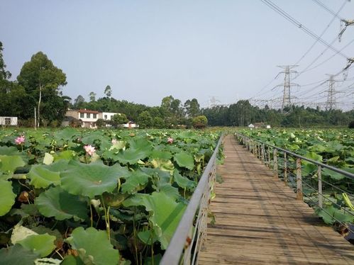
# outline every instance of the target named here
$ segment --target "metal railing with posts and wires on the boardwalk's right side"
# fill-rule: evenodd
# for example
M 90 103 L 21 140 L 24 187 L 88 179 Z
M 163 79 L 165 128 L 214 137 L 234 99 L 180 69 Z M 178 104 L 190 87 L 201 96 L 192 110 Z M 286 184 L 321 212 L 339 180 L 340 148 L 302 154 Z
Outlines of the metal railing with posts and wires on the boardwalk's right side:
M 322 178 L 322 171 L 323 169 L 329 169 L 333 172 L 345 176 L 345 178 L 348 178 L 350 180 L 354 180 L 354 174 L 348 171 L 344 171 L 342 169 L 338 169 L 336 167 L 331 167 L 328 164 L 323 164 L 313 159 L 303 157 L 299 154 L 295 154 L 294 152 L 290 152 L 289 150 L 284 150 L 280 147 L 276 147 L 260 140 L 247 137 L 240 133 L 235 133 L 235 135 L 236 137 L 238 137 L 238 141 L 240 143 L 245 145 L 245 147 L 247 147 L 247 149 L 252 152 L 256 157 L 258 157 L 258 159 L 260 159 L 262 163 L 272 169 L 274 179 L 279 179 L 279 176 L 281 174 L 282 179 L 285 181 L 285 183 L 289 184 L 289 186 L 294 188 L 294 191 L 297 193 L 298 200 L 304 200 L 306 201 L 306 203 L 309 203 L 309 205 L 320 208 L 321 210 L 323 210 L 324 213 L 328 214 L 329 216 L 332 216 L 333 220 L 336 220 L 341 225 L 344 225 L 348 229 L 348 231 L 354 232 L 350 229 L 350 227 L 348 227 L 348 225 L 345 225 L 344 222 L 338 220 L 338 218 L 333 216 L 333 214 L 331 215 L 331 213 L 328 213 L 326 208 L 323 207 L 323 201 L 328 201 L 331 204 L 336 205 L 336 208 L 343 210 L 343 213 L 348 213 L 354 218 L 353 210 L 350 211 L 345 209 L 345 207 L 343 207 L 343 205 L 338 204 L 338 202 L 334 200 L 334 198 L 323 194 L 323 185 L 331 187 L 333 191 L 347 194 L 347 196 L 352 198 L 352 200 L 354 199 L 354 196 L 350 192 L 353 191 L 345 191 L 343 188 L 339 188 L 338 186 L 331 184 L 329 181 L 325 181 Z M 316 166 L 316 169 L 311 172 L 305 171 L 302 168 L 302 164 L 304 164 L 303 162 L 314 164 Z M 306 178 L 303 178 L 303 175 L 306 176 Z M 312 183 L 314 181 L 317 182 L 317 184 L 315 185 L 317 187 L 315 188 L 314 186 L 306 182 L 305 179 L 309 180 L 309 182 Z M 313 192 L 304 192 L 303 186 L 305 186 L 308 191 L 310 190 Z M 317 194 L 316 201 L 314 201 L 314 194 Z

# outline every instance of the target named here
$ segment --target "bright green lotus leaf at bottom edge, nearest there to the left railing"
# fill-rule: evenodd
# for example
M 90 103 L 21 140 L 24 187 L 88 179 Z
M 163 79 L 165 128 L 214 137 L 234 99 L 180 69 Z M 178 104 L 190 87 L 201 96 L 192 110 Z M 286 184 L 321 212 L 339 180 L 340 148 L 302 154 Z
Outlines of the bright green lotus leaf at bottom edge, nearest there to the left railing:
M 72 249 L 77 249 L 84 264 L 118 264 L 119 252 L 109 242 L 106 231 L 99 231 L 94 227 L 89 227 L 87 230 L 77 227 L 65 241 Z

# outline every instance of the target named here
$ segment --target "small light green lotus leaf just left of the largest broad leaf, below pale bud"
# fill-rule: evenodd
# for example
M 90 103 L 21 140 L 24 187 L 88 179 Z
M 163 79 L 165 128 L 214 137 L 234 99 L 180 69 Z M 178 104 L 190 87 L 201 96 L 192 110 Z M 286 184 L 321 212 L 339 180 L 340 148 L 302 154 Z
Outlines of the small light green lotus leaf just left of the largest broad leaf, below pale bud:
M 47 188 L 50 185 L 60 185 L 59 172 L 51 171 L 51 167 L 41 164 L 35 164 L 28 172 L 28 179 L 31 179 L 30 184 L 35 188 Z

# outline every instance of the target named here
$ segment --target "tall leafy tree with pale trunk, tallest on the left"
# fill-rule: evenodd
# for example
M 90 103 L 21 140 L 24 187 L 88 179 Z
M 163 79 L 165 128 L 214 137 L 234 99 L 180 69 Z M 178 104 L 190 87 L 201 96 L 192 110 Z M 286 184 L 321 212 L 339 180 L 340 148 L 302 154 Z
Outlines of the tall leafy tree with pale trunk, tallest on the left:
M 44 102 L 50 101 L 50 98 L 62 96 L 61 88 L 67 84 L 66 76 L 61 69 L 55 67 L 47 55 L 43 52 L 37 52 L 31 57 L 30 62 L 25 62 L 21 72 L 17 77 L 18 84 L 23 86 L 27 94 L 27 102 L 23 109 L 23 116 L 30 118 L 33 108 L 36 106 L 38 115 L 38 127 L 41 121 L 41 113 L 47 109 L 41 108 L 42 99 Z M 63 99 L 65 101 L 65 99 Z M 51 106 L 51 105 L 50 105 Z

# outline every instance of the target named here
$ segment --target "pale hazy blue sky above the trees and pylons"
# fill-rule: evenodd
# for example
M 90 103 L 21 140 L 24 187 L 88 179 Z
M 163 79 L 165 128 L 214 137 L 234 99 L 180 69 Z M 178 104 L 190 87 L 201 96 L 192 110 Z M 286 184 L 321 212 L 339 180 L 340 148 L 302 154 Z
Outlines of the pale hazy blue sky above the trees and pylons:
M 319 3 L 335 13 L 345 3 L 338 16 L 354 19 L 354 1 L 272 2 L 312 33 L 326 30 L 327 43 L 338 35 L 340 19 Z M 24 62 L 43 51 L 67 75 L 63 94 L 73 99 L 81 94 L 88 100 L 91 91 L 104 96 L 107 85 L 114 98 L 148 106 L 169 95 L 182 103 L 197 98 L 201 106 L 212 97 L 224 104 L 281 98 L 282 87 L 273 89 L 284 79 L 282 74 L 275 79 L 282 71 L 277 65 L 297 63 L 315 42 L 260 0 L 0 0 L 0 12 L 0 41 L 13 79 Z M 345 57 L 354 57 L 353 39 L 354 25 L 341 43 L 333 43 L 336 50 L 348 45 L 341 51 L 345 56 L 316 67 L 336 53 L 328 49 L 311 65 L 315 69 L 292 81 L 312 84 L 292 89 L 293 101 L 326 101 L 328 84 L 317 85 L 326 74 L 340 72 Z M 297 71 L 325 49 L 317 42 Z M 344 91 L 336 94 L 343 108 L 353 108 L 353 77 L 354 67 L 346 81 L 336 83 L 337 91 Z

